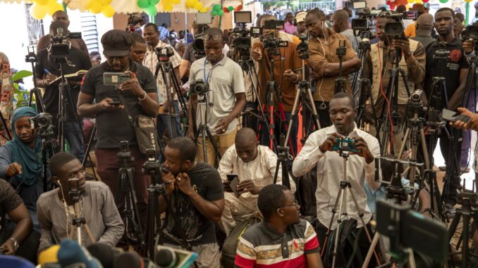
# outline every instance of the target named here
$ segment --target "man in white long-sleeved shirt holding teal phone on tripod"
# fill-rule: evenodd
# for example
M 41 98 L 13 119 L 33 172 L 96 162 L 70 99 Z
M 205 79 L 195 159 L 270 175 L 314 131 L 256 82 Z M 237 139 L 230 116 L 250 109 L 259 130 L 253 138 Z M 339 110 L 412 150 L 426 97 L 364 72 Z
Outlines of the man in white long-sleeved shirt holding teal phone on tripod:
M 338 178 L 343 176 L 343 157 L 338 151 L 333 151 L 336 145 L 336 138 L 350 137 L 354 139 L 355 146 L 360 149 L 358 153 L 350 153 L 348 157 L 347 179 L 351 184 L 357 200 L 358 207 L 364 213 L 362 219 L 367 224 L 372 218 L 372 214 L 367 206 L 367 195 L 364 191 L 364 182 L 372 188 L 372 191 L 378 189 L 374 181 L 374 158 L 380 156 L 380 146 L 377 139 L 357 129 L 355 125 L 355 116 L 357 108 L 355 101 L 350 94 L 338 93 L 330 101 L 330 119 L 333 125 L 324 127 L 310 134 L 305 145 L 293 162 L 292 173 L 295 177 L 300 177 L 317 164 L 317 226 L 316 231 L 319 235 L 319 244 L 324 245 L 324 239 L 327 231 L 327 224 L 332 217 L 337 194 L 340 189 Z M 357 220 L 357 228 L 362 228 L 362 222 L 359 219 L 357 208 L 352 198 L 347 198 L 346 211 L 348 216 Z M 367 224 L 368 226 L 369 224 Z M 336 229 L 337 222 L 333 221 L 331 229 Z M 360 240 L 368 244 L 362 232 Z M 366 252 L 361 250 L 362 253 Z

